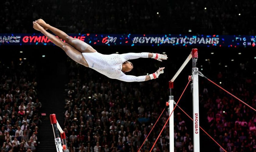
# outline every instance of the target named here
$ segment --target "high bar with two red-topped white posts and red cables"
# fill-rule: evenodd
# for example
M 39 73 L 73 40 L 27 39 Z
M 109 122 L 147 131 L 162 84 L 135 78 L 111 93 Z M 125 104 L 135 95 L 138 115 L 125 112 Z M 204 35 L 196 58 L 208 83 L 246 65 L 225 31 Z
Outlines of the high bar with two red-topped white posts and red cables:
M 180 72 L 183 70 L 183 68 L 187 65 L 187 63 L 189 62 L 190 59 L 193 59 L 193 67 L 192 67 L 192 75 L 188 77 L 188 83 L 186 85 L 186 87 L 184 88 L 182 94 L 180 95 L 179 100 L 176 102 L 174 102 L 174 98 L 172 95 L 172 89 L 173 89 L 173 82 L 174 80 L 177 78 L 177 76 L 180 74 Z M 192 80 L 192 84 L 191 84 L 191 90 L 193 90 L 193 119 L 183 110 L 181 109 L 192 121 L 193 121 L 193 137 L 194 137 L 194 151 L 199 152 L 200 151 L 200 138 L 199 138 L 199 128 L 206 133 L 223 151 L 226 152 L 226 150 L 217 142 L 215 141 L 200 125 L 199 125 L 199 92 L 198 92 L 198 76 L 201 76 L 205 79 L 207 79 L 208 81 L 210 81 L 211 83 L 213 83 L 214 85 L 218 86 L 220 89 L 222 89 L 223 91 L 227 92 L 229 95 L 233 96 L 234 98 L 236 98 L 238 101 L 242 102 L 244 105 L 248 106 L 251 111 L 255 111 L 256 109 L 254 109 L 253 107 L 251 107 L 250 105 L 248 105 L 246 102 L 242 101 L 241 99 L 237 98 L 235 95 L 231 94 L 230 92 L 228 92 L 227 90 L 225 90 L 224 88 L 222 88 L 221 86 L 217 85 L 216 83 L 214 83 L 213 81 L 211 81 L 210 79 L 206 78 L 200 71 L 198 71 L 197 68 L 197 58 L 198 58 L 198 52 L 197 49 L 192 49 L 190 55 L 187 57 L 187 59 L 185 60 L 185 62 L 181 65 L 180 69 L 176 72 L 176 74 L 173 76 L 173 78 L 169 81 L 169 89 L 170 89 L 170 96 L 169 96 L 169 101 L 166 102 L 166 106 L 168 106 L 168 112 L 169 112 L 169 118 L 167 119 L 166 123 L 164 124 L 161 132 L 159 133 L 157 139 L 155 140 L 155 143 L 153 144 L 153 146 L 151 147 L 150 152 L 154 149 L 155 144 L 157 143 L 159 137 L 161 136 L 162 131 L 164 130 L 165 126 L 167 125 L 168 121 L 169 121 L 169 151 L 173 152 L 174 151 L 174 123 L 173 123 L 173 111 L 176 108 L 176 106 L 178 106 L 180 109 L 181 107 L 178 105 L 178 103 L 180 102 L 181 97 L 183 96 L 185 90 L 187 89 L 190 81 Z M 173 104 L 175 104 L 175 106 L 173 107 Z M 160 117 L 162 116 L 163 112 L 165 111 L 165 109 L 163 109 L 162 113 L 160 114 L 160 116 L 158 117 L 157 121 L 155 122 L 154 126 L 151 128 L 150 132 L 148 133 L 148 136 L 150 135 L 150 133 L 152 132 L 152 130 L 154 129 L 156 123 L 158 122 L 158 120 L 160 119 Z M 148 139 L 148 136 L 145 138 L 143 144 L 140 146 L 138 152 L 141 150 L 141 148 L 143 147 L 144 143 L 146 142 L 146 140 Z M 204 150 L 207 151 L 207 150 Z

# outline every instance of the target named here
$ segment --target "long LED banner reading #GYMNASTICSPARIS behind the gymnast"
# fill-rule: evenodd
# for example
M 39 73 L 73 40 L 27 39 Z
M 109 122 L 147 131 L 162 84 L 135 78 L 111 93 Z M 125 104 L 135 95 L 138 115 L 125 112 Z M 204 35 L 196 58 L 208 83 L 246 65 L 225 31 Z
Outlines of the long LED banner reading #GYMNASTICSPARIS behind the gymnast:
M 92 46 L 255 47 L 256 36 L 182 34 L 69 34 Z M 0 34 L 0 45 L 54 45 L 42 34 Z

